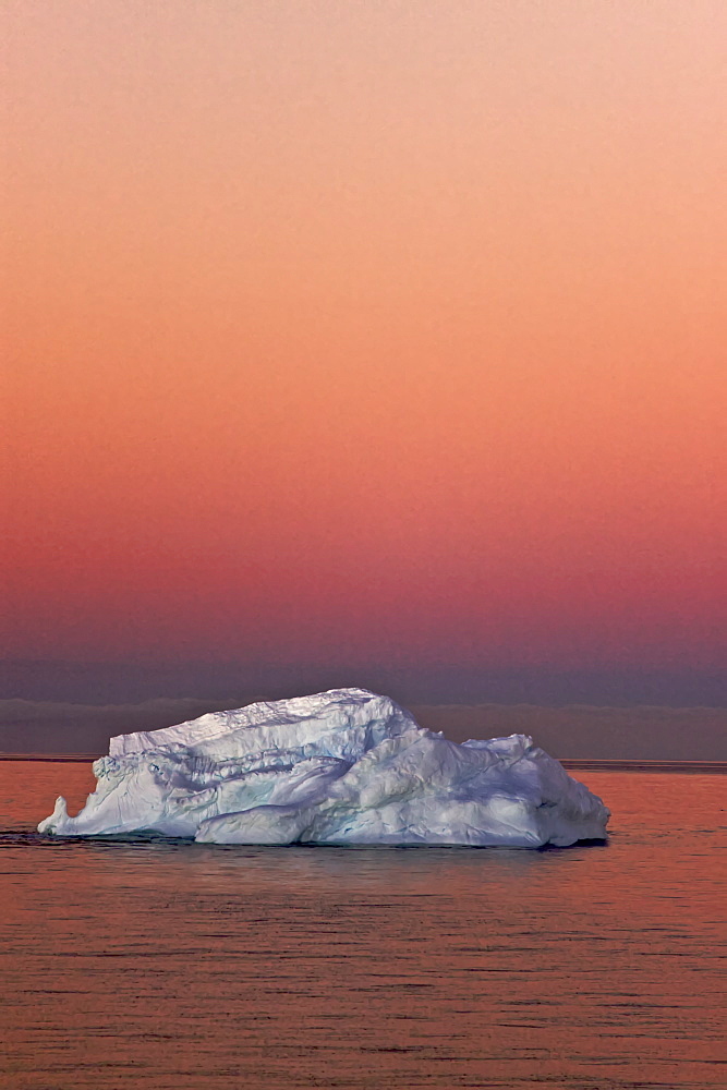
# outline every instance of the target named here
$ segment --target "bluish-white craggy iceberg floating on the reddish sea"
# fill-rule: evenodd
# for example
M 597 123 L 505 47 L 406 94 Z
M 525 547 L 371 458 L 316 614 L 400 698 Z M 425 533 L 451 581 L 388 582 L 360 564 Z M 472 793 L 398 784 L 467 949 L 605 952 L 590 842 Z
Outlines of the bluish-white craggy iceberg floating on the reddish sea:
M 538 848 L 603 839 L 609 816 L 525 735 L 458 746 L 365 689 L 120 735 L 94 773 L 81 813 L 61 797 L 40 833 Z

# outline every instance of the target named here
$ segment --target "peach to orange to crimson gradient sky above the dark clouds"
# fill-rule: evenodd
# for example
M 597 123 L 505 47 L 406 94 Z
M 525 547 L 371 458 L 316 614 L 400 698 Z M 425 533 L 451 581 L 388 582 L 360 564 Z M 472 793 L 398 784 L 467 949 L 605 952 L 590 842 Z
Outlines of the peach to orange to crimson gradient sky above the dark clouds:
M 2 19 L 8 656 L 724 663 L 723 0 Z

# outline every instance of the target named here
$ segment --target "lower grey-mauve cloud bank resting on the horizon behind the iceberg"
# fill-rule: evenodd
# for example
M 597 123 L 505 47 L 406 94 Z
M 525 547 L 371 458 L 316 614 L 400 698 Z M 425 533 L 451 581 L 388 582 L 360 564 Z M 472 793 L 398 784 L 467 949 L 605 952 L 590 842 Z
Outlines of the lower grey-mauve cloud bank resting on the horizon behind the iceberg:
M 0 752 L 102 753 L 112 735 L 154 730 L 241 703 L 235 699 L 215 701 L 192 697 L 104 705 L 3 700 L 0 701 Z M 532 735 L 538 744 L 559 758 L 727 760 L 725 708 L 587 704 L 410 706 L 422 726 L 444 730 L 455 741 L 521 732 Z

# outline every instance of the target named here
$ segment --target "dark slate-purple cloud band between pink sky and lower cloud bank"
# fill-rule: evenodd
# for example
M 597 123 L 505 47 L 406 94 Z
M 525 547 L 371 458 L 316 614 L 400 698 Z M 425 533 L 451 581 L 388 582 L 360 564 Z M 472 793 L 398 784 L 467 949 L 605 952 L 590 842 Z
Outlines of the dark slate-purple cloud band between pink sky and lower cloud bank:
M 295 697 L 360 686 L 386 692 L 401 704 L 635 704 L 669 707 L 727 705 L 727 671 L 594 666 L 552 669 L 513 666 L 303 666 L 235 662 L 86 662 L 0 661 L 0 699 L 69 704 L 136 704 L 160 695 L 191 692 L 217 700 L 233 697 L 235 706 L 258 699 Z

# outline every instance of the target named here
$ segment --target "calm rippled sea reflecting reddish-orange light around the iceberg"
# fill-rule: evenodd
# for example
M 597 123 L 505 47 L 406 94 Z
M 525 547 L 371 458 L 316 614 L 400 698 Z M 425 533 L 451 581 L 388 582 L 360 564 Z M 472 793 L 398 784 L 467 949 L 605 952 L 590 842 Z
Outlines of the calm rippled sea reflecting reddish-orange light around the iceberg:
M 607 846 L 251 849 L 40 837 L 89 770 L 0 762 L 0 1088 L 724 1088 L 727 778 L 580 778 Z

